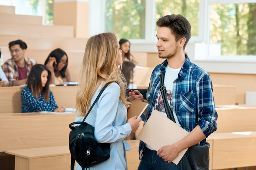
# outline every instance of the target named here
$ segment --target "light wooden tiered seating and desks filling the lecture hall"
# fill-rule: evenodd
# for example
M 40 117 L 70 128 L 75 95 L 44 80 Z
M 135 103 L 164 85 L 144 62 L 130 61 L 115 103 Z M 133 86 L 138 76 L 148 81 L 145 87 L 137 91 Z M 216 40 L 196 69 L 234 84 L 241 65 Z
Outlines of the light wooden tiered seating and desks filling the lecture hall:
M 62 48 L 69 57 L 68 67 L 72 71 L 74 81 L 78 81 L 87 38 L 74 37 L 77 28 L 67 25 L 42 25 L 42 17 L 16 15 L 15 7 L 11 6 L 0 6 L 0 28 L 3 61 L 11 57 L 8 43 L 16 39 L 22 39 L 27 43 L 27 57 L 42 64 L 49 52 L 55 48 Z M 135 55 L 140 56 L 138 60 L 144 66 L 137 68 L 135 81 L 138 88 L 145 89 L 148 86 L 150 73 L 162 60 L 159 60 L 155 53 L 135 52 Z M 218 79 L 218 74 L 212 75 L 213 82 L 216 80 L 220 84 L 231 77 L 228 75 L 229 77 L 221 80 Z M 250 76 L 247 79 L 252 78 Z M 68 124 L 74 121 L 74 114 L 20 113 L 21 89 L 21 87 L 0 88 L 0 169 L 37 170 L 42 167 L 51 170 L 69 169 Z M 51 89 L 58 105 L 74 107 L 75 86 L 51 87 Z M 213 89 L 219 113 L 217 122 L 219 126 L 216 133 L 207 139 L 211 143 L 211 168 L 255 170 L 256 106 L 235 105 L 237 101 L 244 99 L 243 90 L 239 85 L 213 85 Z M 64 90 L 67 93 L 63 93 Z M 244 131 L 249 132 L 243 133 Z M 139 141 L 131 140 L 129 143 L 132 150 L 127 152 L 128 170 L 137 170 Z

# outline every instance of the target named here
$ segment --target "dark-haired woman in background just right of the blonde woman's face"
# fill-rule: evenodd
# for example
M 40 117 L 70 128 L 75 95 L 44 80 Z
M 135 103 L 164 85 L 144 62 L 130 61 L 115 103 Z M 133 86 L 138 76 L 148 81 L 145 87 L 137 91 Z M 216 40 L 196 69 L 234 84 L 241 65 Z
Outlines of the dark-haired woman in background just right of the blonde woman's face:
M 120 39 L 119 40 L 120 49 L 122 50 L 122 60 L 123 61 L 132 61 L 136 65 L 139 65 L 139 62 L 136 61 L 134 56 L 130 53 L 130 41 L 128 39 Z

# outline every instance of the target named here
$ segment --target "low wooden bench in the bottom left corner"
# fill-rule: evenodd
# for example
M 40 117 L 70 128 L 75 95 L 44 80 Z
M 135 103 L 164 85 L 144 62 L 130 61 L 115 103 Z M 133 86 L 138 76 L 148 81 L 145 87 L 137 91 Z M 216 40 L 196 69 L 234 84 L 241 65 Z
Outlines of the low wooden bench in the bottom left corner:
M 70 169 L 69 146 L 7 150 L 15 155 L 15 170 L 68 170 Z

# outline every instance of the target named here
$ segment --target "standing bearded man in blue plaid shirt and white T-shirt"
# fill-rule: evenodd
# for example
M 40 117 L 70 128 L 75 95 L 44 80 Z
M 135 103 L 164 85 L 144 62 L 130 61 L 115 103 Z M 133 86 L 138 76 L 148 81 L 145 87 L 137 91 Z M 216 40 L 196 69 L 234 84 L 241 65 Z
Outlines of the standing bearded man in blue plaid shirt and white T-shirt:
M 173 110 L 175 122 L 190 133 L 175 144 L 162 146 L 157 151 L 141 141 L 138 170 L 180 170 L 180 163 L 175 165 L 173 159 L 181 150 L 201 141 L 204 143 L 206 137 L 216 131 L 218 116 L 209 74 L 191 63 L 184 53 L 191 37 L 188 20 L 182 15 L 166 15 L 157 21 L 157 26 L 159 58 L 166 60 L 152 72 L 145 100 L 149 103 L 145 122 L 154 109 L 167 116 L 159 91 L 162 72 L 167 101 Z M 141 100 L 141 95 L 129 95 L 130 100 Z

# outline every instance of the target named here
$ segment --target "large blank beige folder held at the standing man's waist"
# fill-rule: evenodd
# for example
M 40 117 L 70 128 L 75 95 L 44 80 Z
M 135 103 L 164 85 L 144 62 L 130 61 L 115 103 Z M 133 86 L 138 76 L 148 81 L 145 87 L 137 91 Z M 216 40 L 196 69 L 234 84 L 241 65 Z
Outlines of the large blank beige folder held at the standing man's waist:
M 150 118 L 137 135 L 137 138 L 155 150 L 159 150 L 162 146 L 180 141 L 188 134 L 189 132 L 185 129 L 155 110 L 151 113 Z M 177 165 L 187 149 L 188 148 L 180 151 L 177 157 L 173 160 L 173 163 Z

